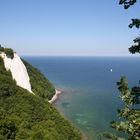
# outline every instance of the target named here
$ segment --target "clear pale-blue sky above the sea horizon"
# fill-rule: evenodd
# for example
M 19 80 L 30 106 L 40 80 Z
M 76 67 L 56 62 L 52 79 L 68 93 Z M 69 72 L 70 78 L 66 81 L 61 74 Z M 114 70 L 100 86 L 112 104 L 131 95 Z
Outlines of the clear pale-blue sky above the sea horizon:
M 125 56 L 137 29 L 140 2 L 119 0 L 0 0 L 0 44 L 20 55 Z

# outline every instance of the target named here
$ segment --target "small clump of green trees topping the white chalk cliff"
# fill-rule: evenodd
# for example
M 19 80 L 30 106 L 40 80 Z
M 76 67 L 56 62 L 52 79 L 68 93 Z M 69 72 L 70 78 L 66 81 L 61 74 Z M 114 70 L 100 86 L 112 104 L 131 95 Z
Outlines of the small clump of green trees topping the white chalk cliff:
M 4 52 L 9 58 L 14 58 L 14 51 L 11 48 L 4 48 L 0 45 L 0 52 Z

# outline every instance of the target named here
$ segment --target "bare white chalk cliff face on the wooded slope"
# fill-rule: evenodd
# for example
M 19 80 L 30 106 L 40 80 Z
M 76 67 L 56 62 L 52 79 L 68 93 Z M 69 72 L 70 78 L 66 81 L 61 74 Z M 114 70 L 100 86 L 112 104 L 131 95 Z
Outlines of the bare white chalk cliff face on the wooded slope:
M 11 71 L 12 77 L 16 81 L 17 85 L 33 93 L 27 69 L 20 57 L 16 53 L 14 53 L 13 59 L 8 58 L 5 53 L 0 53 L 0 56 L 4 60 L 6 70 Z

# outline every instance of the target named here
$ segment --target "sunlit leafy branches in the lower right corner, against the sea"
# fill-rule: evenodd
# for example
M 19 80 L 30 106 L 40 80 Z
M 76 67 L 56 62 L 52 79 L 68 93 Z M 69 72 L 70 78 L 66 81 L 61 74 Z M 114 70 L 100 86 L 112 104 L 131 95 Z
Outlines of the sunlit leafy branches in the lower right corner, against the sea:
M 128 140 L 140 140 L 140 86 L 129 89 L 126 77 L 122 77 L 117 85 L 124 107 L 118 109 L 120 121 L 112 121 L 111 127 L 124 132 Z M 111 133 L 105 133 L 104 136 L 112 140 L 125 139 Z

